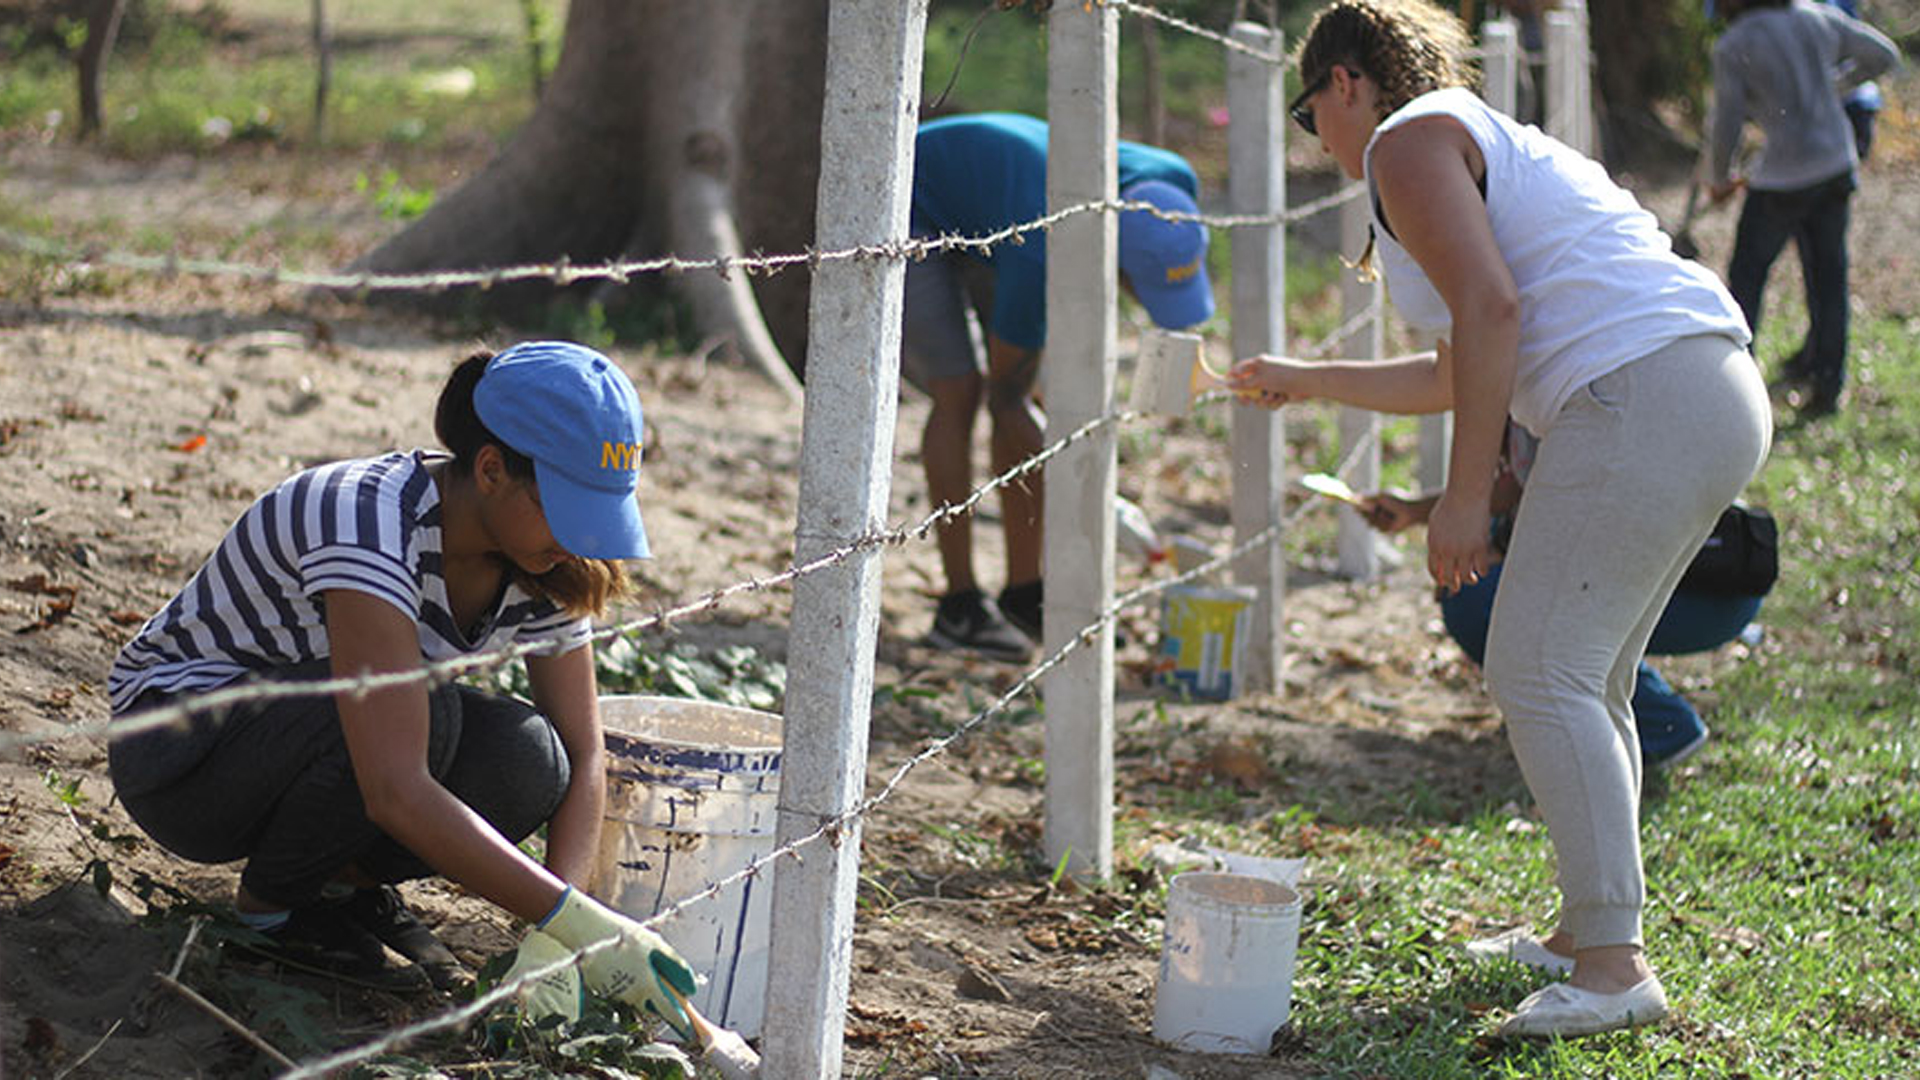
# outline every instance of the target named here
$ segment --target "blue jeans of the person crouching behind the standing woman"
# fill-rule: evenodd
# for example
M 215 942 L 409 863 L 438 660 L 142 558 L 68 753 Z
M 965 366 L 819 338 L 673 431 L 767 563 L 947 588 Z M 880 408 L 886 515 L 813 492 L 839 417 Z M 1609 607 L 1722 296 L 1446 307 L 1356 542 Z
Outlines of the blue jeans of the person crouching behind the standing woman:
M 1478 582 L 1440 598 L 1440 621 L 1473 663 L 1486 663 L 1486 626 L 1494 615 L 1494 592 L 1500 588 L 1500 563 Z M 1732 642 L 1747 623 L 1761 613 L 1759 596 L 1713 596 L 1705 592 L 1674 592 L 1667 611 L 1653 625 L 1647 651 L 1653 655 L 1703 653 Z M 1665 732 L 1693 730 L 1699 713 L 1686 698 L 1640 661 L 1634 675 L 1634 728 L 1644 746 L 1659 746 Z

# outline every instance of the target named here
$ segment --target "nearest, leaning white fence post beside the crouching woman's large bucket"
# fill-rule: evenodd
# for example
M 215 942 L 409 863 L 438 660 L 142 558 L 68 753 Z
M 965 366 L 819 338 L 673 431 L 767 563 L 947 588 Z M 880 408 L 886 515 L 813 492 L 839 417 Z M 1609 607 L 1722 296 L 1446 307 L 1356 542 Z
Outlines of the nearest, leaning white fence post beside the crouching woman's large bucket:
M 906 236 L 927 0 L 837 0 L 828 17 L 816 246 Z M 808 311 L 795 561 L 887 523 L 900 377 L 893 259 L 822 263 Z M 793 586 L 778 842 L 852 809 L 866 786 L 879 550 Z M 860 828 L 774 867 L 766 1080 L 841 1074 Z

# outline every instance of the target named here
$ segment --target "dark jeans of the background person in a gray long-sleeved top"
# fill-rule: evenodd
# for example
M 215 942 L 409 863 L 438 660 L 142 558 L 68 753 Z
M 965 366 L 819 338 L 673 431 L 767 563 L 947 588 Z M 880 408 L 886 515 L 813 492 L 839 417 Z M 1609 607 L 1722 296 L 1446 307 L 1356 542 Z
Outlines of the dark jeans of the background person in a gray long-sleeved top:
M 1726 288 L 1759 336 L 1766 275 L 1788 240 L 1797 240 L 1807 282 L 1807 352 L 1797 375 L 1822 396 L 1837 396 L 1847 380 L 1847 211 L 1855 186 L 1849 169 L 1797 190 L 1749 188 L 1726 267 Z

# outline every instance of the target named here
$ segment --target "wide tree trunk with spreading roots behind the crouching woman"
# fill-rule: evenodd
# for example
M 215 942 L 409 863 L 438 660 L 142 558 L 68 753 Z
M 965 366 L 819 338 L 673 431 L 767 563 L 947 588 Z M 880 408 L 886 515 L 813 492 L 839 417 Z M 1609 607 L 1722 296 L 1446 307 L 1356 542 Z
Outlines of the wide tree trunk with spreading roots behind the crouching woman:
M 812 236 L 824 71 L 826 0 L 574 0 L 553 83 L 518 136 L 355 265 L 799 250 Z M 701 334 L 728 336 L 799 396 L 781 348 L 795 359 L 804 350 L 804 271 L 695 271 L 668 284 Z M 493 292 L 490 302 L 524 304 L 551 290 Z

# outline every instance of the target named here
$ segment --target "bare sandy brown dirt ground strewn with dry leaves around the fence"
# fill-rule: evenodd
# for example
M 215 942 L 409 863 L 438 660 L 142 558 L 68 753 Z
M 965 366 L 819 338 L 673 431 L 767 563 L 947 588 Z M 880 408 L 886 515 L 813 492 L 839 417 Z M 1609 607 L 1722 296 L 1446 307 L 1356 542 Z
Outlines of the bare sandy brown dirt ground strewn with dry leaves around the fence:
M 1912 317 L 1920 142 L 1899 100 L 1855 204 L 1853 252 L 1857 304 Z M 4 144 L 0 198 L 56 221 L 169 229 L 182 254 L 242 261 L 271 259 L 265 236 L 292 225 L 328 238 L 288 259 L 319 267 L 344 263 L 390 229 L 349 194 L 357 167 L 365 163 L 296 167 L 271 152 L 132 165 L 15 138 Z M 1663 219 L 1678 219 L 1684 183 L 1636 183 Z M 1732 211 L 1703 215 L 1695 233 L 1705 261 L 1724 265 Z M 1789 281 L 1776 298 L 1797 290 Z M 486 344 L 509 340 L 501 332 Z M 0 1074 L 259 1070 L 246 1043 L 156 980 L 175 970 L 180 924 L 140 924 L 148 905 L 136 876 L 221 903 L 234 869 L 169 857 L 140 842 L 115 805 L 98 734 L 106 673 L 259 490 L 309 463 L 430 444 L 432 398 L 474 344 L 432 321 L 232 279 L 54 273 L 0 296 L 0 730 L 40 738 L 0 749 Z M 622 615 L 783 569 L 799 409 L 739 367 L 614 356 L 655 429 L 643 505 L 657 557 L 641 571 L 645 605 Z M 927 511 L 914 455 L 922 415 L 920 398 L 902 402 L 895 523 Z M 1223 544 L 1229 461 L 1219 444 L 1194 423 L 1142 444 L 1150 454 L 1125 465 L 1123 494 L 1164 530 Z M 991 507 L 975 536 L 979 567 L 998 584 Z M 1244 798 L 1235 813 L 1248 817 L 1300 803 L 1388 821 L 1417 788 L 1471 805 L 1524 801 L 1498 719 L 1438 628 L 1419 548 L 1407 552 L 1404 567 L 1369 584 L 1327 575 L 1325 550 L 1300 553 L 1281 694 L 1179 703 L 1146 682 L 1154 613 L 1125 619 L 1116 751 L 1123 867 L 1173 838 L 1154 824 L 1169 784 L 1236 784 Z M 1121 584 L 1142 573 L 1123 561 Z M 920 642 L 939 586 L 929 544 L 889 550 L 872 778 L 1020 675 Z M 674 634 L 783 657 L 787 605 L 787 592 L 751 592 Z M 1718 663 L 1732 661 L 1674 663 L 1668 675 L 1711 703 Z M 1041 723 L 1021 709 L 916 771 L 872 817 L 849 1074 L 1300 1074 L 1286 1051 L 1235 1059 L 1152 1042 L 1160 940 L 1150 920 L 1116 917 L 1125 882 L 1048 890 L 1046 874 L 1025 863 L 1037 851 L 1041 790 L 1023 763 L 1039 757 Z M 111 867 L 106 899 L 90 882 L 96 861 Z M 1309 865 L 1308 903 L 1317 882 L 1338 874 L 1334 863 Z M 449 886 L 409 886 L 409 897 L 470 963 L 513 942 L 490 905 Z M 198 963 L 180 969 L 188 984 Z M 342 1040 L 440 1005 L 344 990 L 324 999 Z M 263 1001 L 273 1001 L 267 990 L 252 997 L 255 1009 Z

